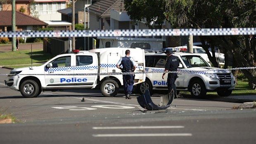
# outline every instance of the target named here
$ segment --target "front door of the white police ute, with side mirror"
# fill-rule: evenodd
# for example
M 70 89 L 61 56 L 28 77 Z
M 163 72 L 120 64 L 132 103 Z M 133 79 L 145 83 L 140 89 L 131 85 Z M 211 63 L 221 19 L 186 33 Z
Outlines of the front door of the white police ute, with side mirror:
M 59 87 L 73 85 L 73 68 L 71 67 L 71 55 L 57 57 L 52 60 L 52 67 L 45 67 L 46 87 Z

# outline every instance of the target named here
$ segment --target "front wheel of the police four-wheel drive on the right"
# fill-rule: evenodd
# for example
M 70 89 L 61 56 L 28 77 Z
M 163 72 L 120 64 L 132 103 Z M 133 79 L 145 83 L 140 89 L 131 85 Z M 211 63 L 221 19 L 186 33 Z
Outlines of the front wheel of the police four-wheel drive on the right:
M 204 97 L 206 95 L 206 87 L 201 80 L 193 80 L 190 84 L 190 93 L 193 97 Z

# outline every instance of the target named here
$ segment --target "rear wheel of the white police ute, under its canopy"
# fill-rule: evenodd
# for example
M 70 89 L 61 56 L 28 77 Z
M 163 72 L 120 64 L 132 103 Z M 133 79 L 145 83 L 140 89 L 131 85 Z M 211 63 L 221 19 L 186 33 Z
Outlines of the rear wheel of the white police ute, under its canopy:
M 107 79 L 100 85 L 100 91 L 104 97 L 114 97 L 119 91 L 119 85 L 115 80 Z

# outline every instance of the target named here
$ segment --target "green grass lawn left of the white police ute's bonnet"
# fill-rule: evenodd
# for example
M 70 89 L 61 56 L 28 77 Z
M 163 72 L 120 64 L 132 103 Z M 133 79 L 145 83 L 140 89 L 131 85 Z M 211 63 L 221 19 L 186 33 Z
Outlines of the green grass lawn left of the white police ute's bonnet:
M 52 54 L 45 53 L 43 50 L 33 50 L 31 56 L 31 50 L 19 50 L 14 52 L 2 52 L 0 53 L 0 65 L 15 65 L 15 64 L 31 64 L 32 62 L 43 62 L 51 59 Z M 20 66 L 25 67 L 25 66 Z

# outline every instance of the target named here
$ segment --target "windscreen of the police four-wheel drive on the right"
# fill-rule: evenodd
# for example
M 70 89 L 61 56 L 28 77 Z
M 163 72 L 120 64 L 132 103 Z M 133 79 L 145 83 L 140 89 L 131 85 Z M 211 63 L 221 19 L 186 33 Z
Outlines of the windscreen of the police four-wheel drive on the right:
M 209 66 L 209 64 L 200 56 L 182 56 L 187 68 Z

